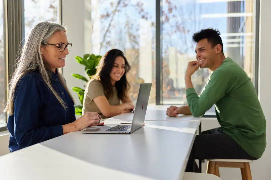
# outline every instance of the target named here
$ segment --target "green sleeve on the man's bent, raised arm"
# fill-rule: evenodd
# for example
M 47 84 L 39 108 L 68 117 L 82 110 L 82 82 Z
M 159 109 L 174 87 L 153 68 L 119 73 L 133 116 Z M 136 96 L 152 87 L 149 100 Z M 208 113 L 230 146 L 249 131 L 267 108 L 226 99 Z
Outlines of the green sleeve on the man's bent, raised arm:
M 194 88 L 186 89 L 186 100 L 193 116 L 203 116 L 218 100 L 225 96 L 230 76 L 215 70 L 200 96 Z

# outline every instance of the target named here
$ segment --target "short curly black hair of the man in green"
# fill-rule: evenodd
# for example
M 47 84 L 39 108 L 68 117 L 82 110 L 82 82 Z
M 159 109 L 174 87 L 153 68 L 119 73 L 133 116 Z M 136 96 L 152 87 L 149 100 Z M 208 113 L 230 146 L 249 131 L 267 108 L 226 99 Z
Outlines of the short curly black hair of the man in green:
M 221 52 L 223 53 L 223 43 L 220 37 L 219 30 L 213 28 L 202 29 L 201 31 L 193 34 L 193 42 L 199 42 L 202 39 L 207 39 L 211 43 L 212 47 L 220 44 L 222 46 Z

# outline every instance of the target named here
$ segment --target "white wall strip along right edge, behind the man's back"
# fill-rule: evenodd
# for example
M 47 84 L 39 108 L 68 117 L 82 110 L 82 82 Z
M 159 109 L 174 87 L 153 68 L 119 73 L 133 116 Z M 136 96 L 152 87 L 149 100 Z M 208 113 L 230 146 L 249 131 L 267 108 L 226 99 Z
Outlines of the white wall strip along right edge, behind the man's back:
M 251 163 L 253 179 L 271 179 L 271 84 L 270 84 L 270 29 L 271 1 L 260 1 L 260 54 L 259 54 L 259 99 L 266 118 L 266 150 L 259 160 Z

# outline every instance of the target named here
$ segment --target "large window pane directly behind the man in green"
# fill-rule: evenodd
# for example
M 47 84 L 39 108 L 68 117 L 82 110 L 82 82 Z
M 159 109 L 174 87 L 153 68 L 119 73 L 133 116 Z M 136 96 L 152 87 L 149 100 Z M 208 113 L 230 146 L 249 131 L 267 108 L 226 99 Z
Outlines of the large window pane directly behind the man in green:
M 254 0 L 163 0 L 163 104 L 187 103 L 184 75 L 188 62 L 196 56 L 192 35 L 204 28 L 220 31 L 225 56 L 243 67 L 253 80 L 253 7 Z M 208 69 L 199 69 L 192 76 L 198 94 L 209 73 Z

